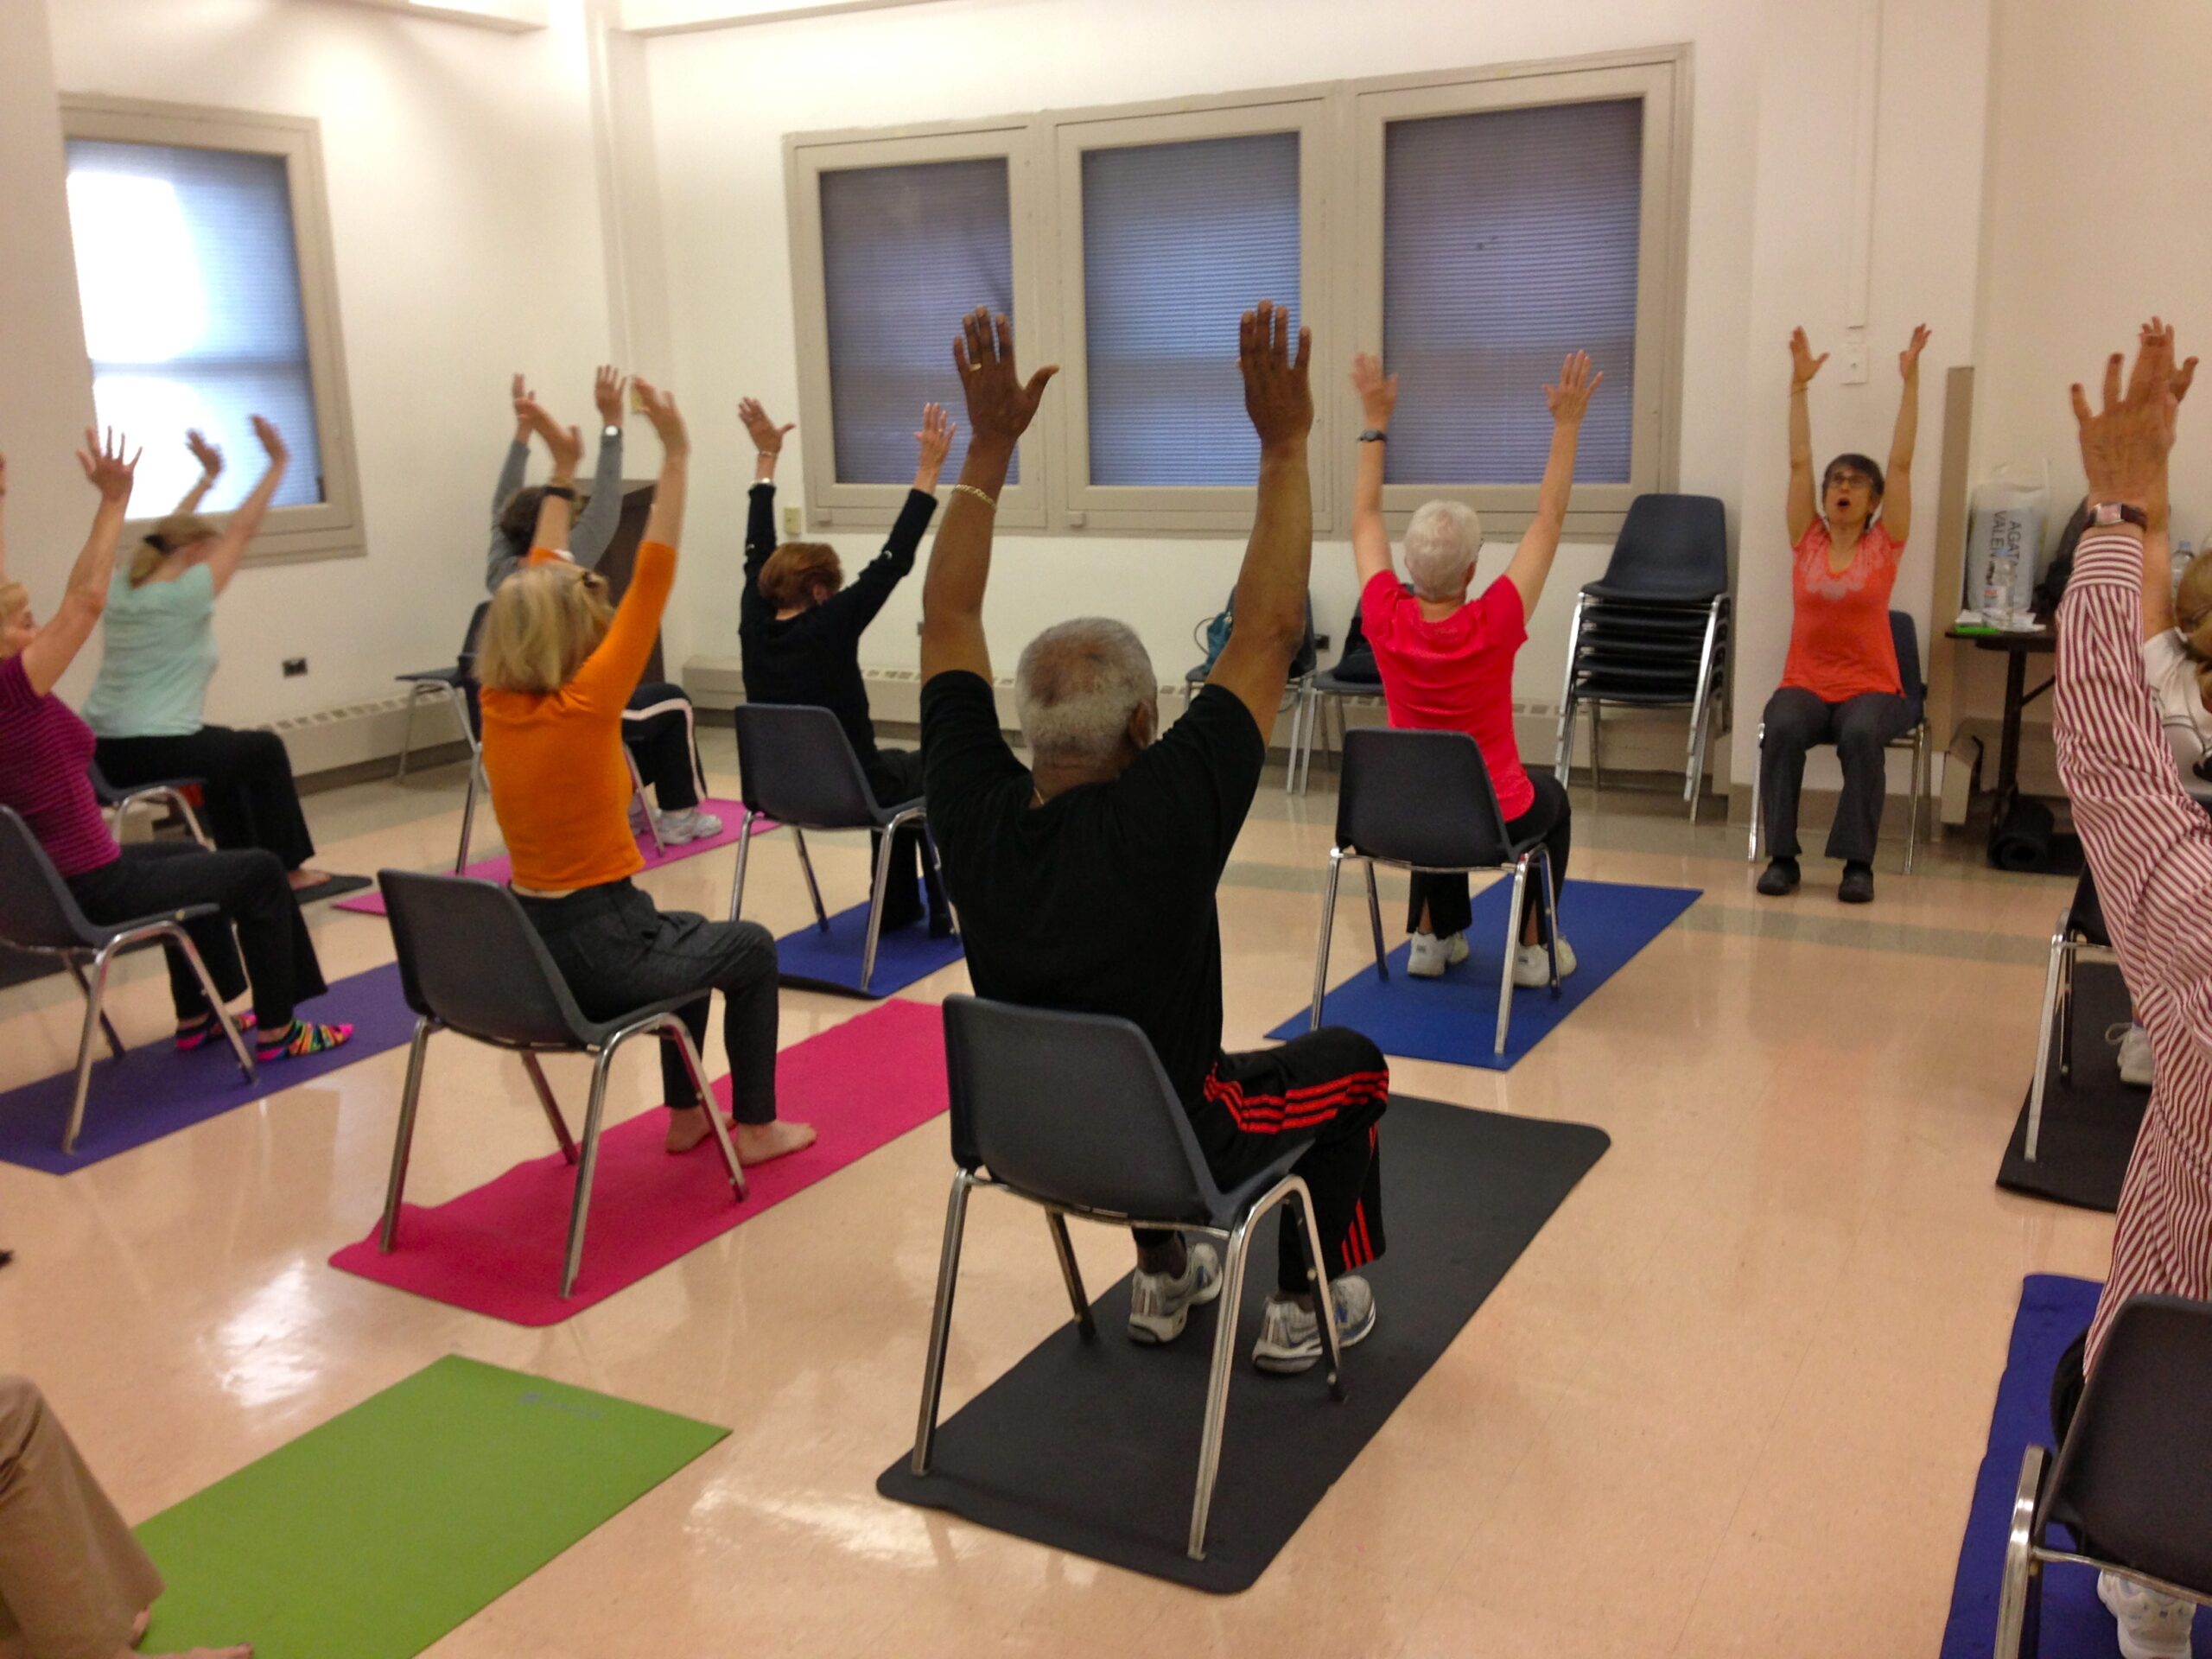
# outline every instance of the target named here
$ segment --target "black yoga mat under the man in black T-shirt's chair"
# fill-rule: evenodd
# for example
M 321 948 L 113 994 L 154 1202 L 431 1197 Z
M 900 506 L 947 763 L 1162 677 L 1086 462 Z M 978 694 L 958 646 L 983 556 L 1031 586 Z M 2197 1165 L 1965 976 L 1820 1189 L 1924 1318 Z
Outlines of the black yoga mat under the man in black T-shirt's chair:
M 916 1478 L 902 1449 L 876 1491 L 1199 1590 L 1245 1590 L 1608 1146 L 1586 1124 L 1391 1097 L 1383 1119 L 1389 1254 L 1363 1270 L 1378 1318 L 1345 1352 L 1340 1405 L 1321 1367 L 1305 1376 L 1252 1369 L 1259 1307 L 1274 1287 L 1276 1228 L 1263 1223 L 1245 1272 L 1203 1562 L 1183 1548 L 1221 1303 L 1194 1310 L 1175 1345 L 1137 1347 L 1126 1336 L 1126 1276 L 1091 1305 L 1097 1340 L 1084 1343 L 1073 1321 L 1062 1325 L 938 1429 L 929 1475 Z M 1053 1276 L 1042 1219 L 1035 1232 L 1035 1261 L 1024 1265 Z M 971 1281 L 964 1296 L 975 1294 Z M 958 1347 L 958 1298 L 951 1340 Z

